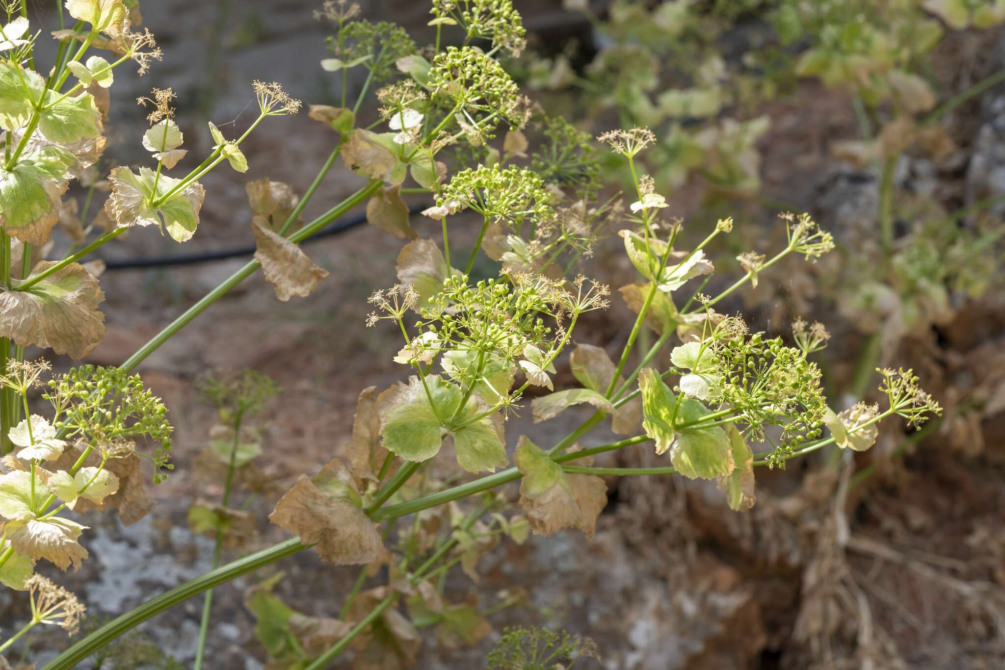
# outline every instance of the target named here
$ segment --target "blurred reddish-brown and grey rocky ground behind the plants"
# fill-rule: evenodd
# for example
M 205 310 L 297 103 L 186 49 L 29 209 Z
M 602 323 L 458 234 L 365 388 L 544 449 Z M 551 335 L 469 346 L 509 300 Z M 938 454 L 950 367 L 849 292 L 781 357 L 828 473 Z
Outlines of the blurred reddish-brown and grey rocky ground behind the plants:
M 247 103 L 253 104 L 253 78 L 281 81 L 307 102 L 331 102 L 334 79 L 317 65 L 325 56 L 327 32 L 312 17 L 315 4 L 145 2 L 146 24 L 159 36 L 166 57 L 148 77 L 124 74 L 114 88 L 108 156 L 118 163 L 109 167 L 144 154 L 143 115 L 131 99 L 151 85 L 171 85 L 178 92 L 186 146 L 197 153 L 210 147 L 201 110 L 211 110 L 228 136 L 240 132 Z M 405 24 L 421 26 L 426 20 L 424 7 L 407 3 L 378 3 L 368 10 Z M 542 8 L 549 20 L 553 10 L 557 7 Z M 224 35 L 216 55 L 210 46 L 214 31 Z M 964 43 L 944 55 L 947 67 L 978 78 L 968 66 L 1005 65 L 1001 43 L 988 39 L 980 49 Z M 767 110 L 774 130 L 762 147 L 766 191 L 813 211 L 835 235 L 874 226 L 874 178 L 826 159 L 822 151 L 828 137 L 853 127 L 850 106 L 813 89 L 801 100 Z M 962 147 L 958 163 L 907 161 L 898 179 L 917 189 L 943 190 L 946 200 L 962 204 L 1005 192 L 1005 90 L 989 91 L 958 117 L 953 121 Z M 231 121 L 233 127 L 225 125 Z M 143 258 L 249 244 L 245 181 L 271 177 L 303 191 L 333 141 L 306 115 L 268 120 L 243 147 L 251 165 L 246 176 L 220 170 L 205 180 L 208 196 L 191 242 L 179 247 L 152 230 L 138 230 L 103 253 Z M 358 185 L 358 178 L 337 167 L 308 216 Z M 771 220 L 767 213 L 759 216 Z M 414 223 L 420 235 L 433 234 L 426 230 L 429 222 Z M 59 581 L 82 597 L 93 620 L 115 616 L 208 569 L 211 542 L 191 533 L 185 522 L 191 500 L 221 492 L 221 484 L 201 479 L 195 465 L 214 423 L 212 408 L 195 392 L 200 375 L 252 368 L 283 389 L 267 414 L 263 457 L 276 491 L 340 453 L 359 390 L 385 388 L 396 379 L 387 356 L 397 348 L 393 333 L 362 325 L 365 297 L 393 281 L 400 246 L 370 227 L 313 243 L 312 257 L 332 274 L 309 299 L 278 302 L 261 276 L 253 276 L 143 364 L 144 380 L 171 411 L 176 470 L 167 483 L 153 487 L 157 505 L 135 524 L 124 526 L 115 514 L 80 517 L 91 526 L 84 541 L 91 559 Z M 89 361 L 121 363 L 243 262 L 108 272 L 102 285 L 109 334 Z M 629 276 L 626 264 L 613 267 Z M 746 301 L 764 320 L 758 327 L 784 323 L 793 301 L 805 303 L 809 313 L 820 296 L 808 289 L 804 275 L 788 276 L 784 290 L 773 293 L 762 286 L 731 307 Z M 966 304 L 937 333 L 938 342 L 935 336 L 909 342 L 899 353 L 920 362 L 916 367 L 929 367 L 923 374 L 935 376 L 941 385 L 936 395 L 944 402 L 940 394 L 986 388 L 986 396 L 997 400 L 984 405 L 984 414 L 944 422 L 903 458 L 888 456 L 902 435 L 885 433 L 874 448 L 875 474 L 863 481 L 854 476 L 853 462 L 828 463 L 826 455 L 793 462 L 785 472 L 759 472 L 758 503 L 745 514 L 731 512 L 715 485 L 610 479 L 610 503 L 593 541 L 565 532 L 524 545 L 502 542 L 481 564 L 481 584 L 451 578 L 454 601 L 477 598 L 479 606 L 491 607 L 502 590 L 524 589 L 529 602 L 492 615 L 495 632 L 473 648 L 429 640 L 417 667 L 481 667 L 498 631 L 517 623 L 594 638 L 609 670 L 1005 667 L 1002 299 L 992 294 Z M 598 322 L 598 343 L 623 338 L 626 314 L 616 305 Z M 851 354 L 864 346 L 850 328 L 844 337 Z M 567 412 L 546 426 L 561 436 L 581 419 Z M 513 443 L 521 426 L 508 426 L 507 432 Z M 547 438 L 542 436 L 542 443 Z M 637 465 L 647 458 L 633 453 L 611 456 L 609 462 Z M 265 521 L 274 498 L 256 498 L 249 507 L 261 519 L 257 546 L 283 537 Z M 285 574 L 277 593 L 319 616 L 334 615 L 355 577 L 307 551 L 218 589 L 209 667 L 263 667 L 266 659 L 242 593 L 276 571 Z M 189 666 L 201 605 L 194 599 L 141 631 L 154 647 Z M 0 607 L 4 630 L 24 620 L 22 599 L 10 592 L 0 594 Z M 31 658 L 44 664 L 64 644 L 56 636 L 40 636 Z M 139 638 L 130 645 L 142 648 Z M 147 663 L 123 667 L 157 667 Z

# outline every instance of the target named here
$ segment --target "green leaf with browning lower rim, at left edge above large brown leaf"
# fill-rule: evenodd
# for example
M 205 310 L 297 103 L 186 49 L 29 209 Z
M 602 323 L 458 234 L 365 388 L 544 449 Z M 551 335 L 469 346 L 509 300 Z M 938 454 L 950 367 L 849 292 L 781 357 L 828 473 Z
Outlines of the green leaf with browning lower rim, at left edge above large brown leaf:
M 0 223 L 22 242 L 42 245 L 59 220 L 60 196 L 76 165 L 73 154 L 46 145 L 25 151 L 10 170 L 0 166 Z

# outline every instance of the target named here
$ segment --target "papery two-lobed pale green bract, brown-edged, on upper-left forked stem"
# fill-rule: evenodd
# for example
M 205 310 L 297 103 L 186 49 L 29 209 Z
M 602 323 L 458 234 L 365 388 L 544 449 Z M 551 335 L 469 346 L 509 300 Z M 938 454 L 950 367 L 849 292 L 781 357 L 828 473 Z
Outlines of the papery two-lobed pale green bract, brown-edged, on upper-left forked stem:
M 154 208 L 155 182 L 156 197 L 163 198 L 181 180 L 167 175 L 158 178 L 150 168 L 140 168 L 139 175 L 126 167 L 114 169 L 109 175 L 112 195 L 105 203 L 105 211 L 119 227 L 160 226 L 163 219 L 165 229 L 176 242 L 190 239 L 199 225 L 205 190 L 198 182 L 193 182 Z

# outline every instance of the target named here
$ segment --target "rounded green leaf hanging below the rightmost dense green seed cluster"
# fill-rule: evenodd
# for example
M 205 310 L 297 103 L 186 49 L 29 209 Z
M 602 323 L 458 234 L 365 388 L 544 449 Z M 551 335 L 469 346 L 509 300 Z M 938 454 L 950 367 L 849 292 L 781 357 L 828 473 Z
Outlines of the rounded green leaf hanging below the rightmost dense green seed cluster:
M 677 410 L 677 423 L 692 423 L 709 414 L 705 405 L 687 398 Z M 670 448 L 670 462 L 688 479 L 725 477 L 735 466 L 730 439 L 719 426 L 681 430 Z

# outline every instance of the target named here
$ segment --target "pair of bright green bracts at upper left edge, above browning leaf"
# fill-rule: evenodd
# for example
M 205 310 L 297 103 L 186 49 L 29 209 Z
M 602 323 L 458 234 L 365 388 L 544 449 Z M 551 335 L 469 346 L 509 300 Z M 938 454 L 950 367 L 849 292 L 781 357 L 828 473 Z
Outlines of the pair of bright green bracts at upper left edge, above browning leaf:
M 45 102 L 38 114 L 38 130 L 46 140 L 69 144 L 102 134 L 102 113 L 93 95 L 84 92 L 63 97 L 46 90 L 45 79 L 37 72 L 10 62 L 0 62 L 0 128 L 16 131 L 27 126 L 43 92 Z

